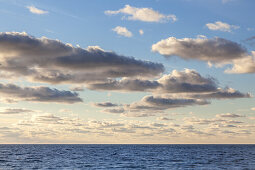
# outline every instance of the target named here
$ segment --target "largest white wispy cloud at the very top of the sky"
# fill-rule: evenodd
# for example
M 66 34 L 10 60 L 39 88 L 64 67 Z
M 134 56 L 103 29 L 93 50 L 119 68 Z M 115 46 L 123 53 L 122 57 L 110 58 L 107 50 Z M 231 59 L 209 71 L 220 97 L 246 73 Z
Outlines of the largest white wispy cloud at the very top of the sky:
M 159 13 L 158 11 L 154 11 L 151 8 L 136 8 L 132 7 L 130 5 L 125 5 L 124 8 L 119 9 L 117 11 L 105 11 L 105 14 L 107 15 L 115 15 L 115 14 L 124 14 L 124 19 L 127 20 L 138 20 L 143 22 L 167 22 L 177 21 L 177 18 L 175 15 L 164 15 Z

